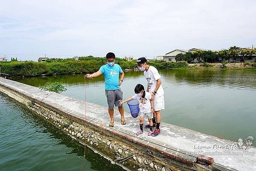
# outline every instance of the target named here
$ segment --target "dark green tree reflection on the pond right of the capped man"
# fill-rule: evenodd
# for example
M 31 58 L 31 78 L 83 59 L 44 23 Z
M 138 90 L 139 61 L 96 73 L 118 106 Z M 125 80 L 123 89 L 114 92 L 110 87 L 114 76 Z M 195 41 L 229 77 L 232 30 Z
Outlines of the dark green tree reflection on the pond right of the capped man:
M 256 89 L 255 70 L 165 70 L 161 74 L 173 86 Z

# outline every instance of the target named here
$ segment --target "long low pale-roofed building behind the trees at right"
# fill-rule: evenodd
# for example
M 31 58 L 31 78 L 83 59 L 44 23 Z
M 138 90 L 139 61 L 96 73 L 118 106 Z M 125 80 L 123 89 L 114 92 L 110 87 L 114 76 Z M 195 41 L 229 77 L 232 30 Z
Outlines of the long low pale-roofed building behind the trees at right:
M 171 52 L 168 52 L 166 53 L 164 56 L 163 56 L 163 61 L 166 61 L 166 62 L 176 62 L 175 60 L 175 57 L 177 54 L 179 53 L 186 53 L 186 52 L 195 52 L 195 51 L 198 51 L 198 50 L 209 50 L 209 49 L 197 49 L 197 48 L 192 48 L 192 49 L 189 49 L 189 50 L 184 50 L 184 49 L 175 49 Z M 212 52 L 215 52 L 216 50 L 211 50 Z M 194 62 L 198 62 L 197 59 L 194 60 Z

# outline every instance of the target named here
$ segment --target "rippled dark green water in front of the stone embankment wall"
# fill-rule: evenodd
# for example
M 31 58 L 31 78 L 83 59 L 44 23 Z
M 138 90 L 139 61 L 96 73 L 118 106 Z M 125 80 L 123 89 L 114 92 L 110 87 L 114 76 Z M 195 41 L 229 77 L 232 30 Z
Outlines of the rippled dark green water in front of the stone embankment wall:
M 0 94 L 0 171 L 122 171 Z

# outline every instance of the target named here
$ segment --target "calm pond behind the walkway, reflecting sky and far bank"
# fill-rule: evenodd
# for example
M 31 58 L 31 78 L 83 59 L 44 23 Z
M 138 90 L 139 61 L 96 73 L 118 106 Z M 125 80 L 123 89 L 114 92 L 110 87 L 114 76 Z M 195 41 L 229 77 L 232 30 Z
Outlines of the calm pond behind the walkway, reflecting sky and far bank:
M 237 141 L 256 133 L 256 70 L 160 70 L 165 91 L 162 121 Z M 87 80 L 84 74 L 57 75 L 15 80 L 39 86 L 48 81 L 67 85 L 63 94 L 108 106 L 104 77 Z M 123 98 L 134 95 L 136 84 L 145 81 L 143 72 L 125 72 Z M 85 96 L 86 90 L 86 96 Z M 125 111 L 129 112 L 127 105 Z M 256 137 L 256 135 L 254 135 Z

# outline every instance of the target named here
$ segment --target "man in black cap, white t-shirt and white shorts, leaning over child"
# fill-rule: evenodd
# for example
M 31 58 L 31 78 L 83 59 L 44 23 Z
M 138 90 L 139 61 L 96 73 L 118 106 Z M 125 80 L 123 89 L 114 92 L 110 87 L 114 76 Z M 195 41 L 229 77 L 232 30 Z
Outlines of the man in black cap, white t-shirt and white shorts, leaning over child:
M 161 113 L 160 110 L 164 109 L 164 97 L 163 97 L 163 87 L 161 76 L 159 75 L 157 69 L 153 66 L 149 66 L 146 58 L 139 58 L 137 60 L 138 68 L 140 71 L 144 71 L 144 76 L 148 81 L 147 92 L 151 93 L 151 100 L 154 101 L 154 117 L 153 117 L 153 126 L 156 127 L 152 136 L 157 136 L 160 134 L 160 122 L 161 122 Z M 149 125 L 145 125 L 149 127 Z

